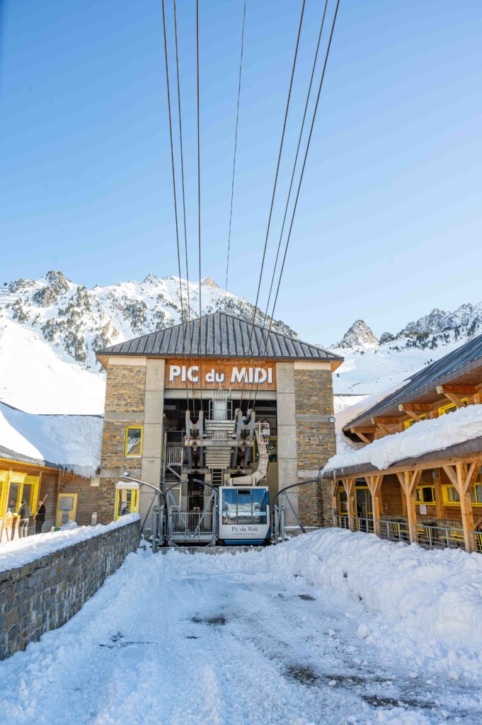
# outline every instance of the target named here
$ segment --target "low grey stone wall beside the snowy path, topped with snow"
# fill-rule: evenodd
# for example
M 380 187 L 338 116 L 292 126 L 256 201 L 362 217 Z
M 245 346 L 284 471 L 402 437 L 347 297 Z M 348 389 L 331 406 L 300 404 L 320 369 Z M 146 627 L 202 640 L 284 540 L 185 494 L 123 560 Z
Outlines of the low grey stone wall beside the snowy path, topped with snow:
M 141 522 L 0 572 L 0 660 L 65 624 L 138 547 Z

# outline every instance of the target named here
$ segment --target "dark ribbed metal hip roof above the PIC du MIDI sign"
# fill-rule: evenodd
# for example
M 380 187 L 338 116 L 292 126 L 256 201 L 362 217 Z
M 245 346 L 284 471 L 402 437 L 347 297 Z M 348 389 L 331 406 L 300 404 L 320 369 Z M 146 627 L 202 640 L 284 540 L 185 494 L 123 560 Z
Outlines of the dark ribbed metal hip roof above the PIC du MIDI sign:
M 201 327 L 201 345 L 199 344 Z M 310 345 L 279 332 L 268 332 L 254 325 L 251 345 L 251 323 L 225 312 L 214 312 L 184 325 L 186 344 L 183 346 L 183 326 L 142 335 L 98 350 L 96 355 L 141 355 L 152 357 L 275 357 L 281 360 L 325 360 L 342 363 L 344 358 L 323 347 Z

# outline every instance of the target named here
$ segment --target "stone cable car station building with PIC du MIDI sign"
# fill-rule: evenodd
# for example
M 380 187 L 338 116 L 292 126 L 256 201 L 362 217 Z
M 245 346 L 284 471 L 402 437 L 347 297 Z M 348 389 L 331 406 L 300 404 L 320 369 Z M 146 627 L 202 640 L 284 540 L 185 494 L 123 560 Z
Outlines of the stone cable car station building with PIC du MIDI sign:
M 137 497 L 141 516 L 149 511 L 151 490 L 119 485 L 126 471 L 172 486 L 180 510 L 195 513 L 207 495 L 199 481 L 261 480 L 273 501 L 335 453 L 332 373 L 343 358 L 328 350 L 215 312 L 97 357 L 107 370 L 101 523 L 134 510 Z M 331 525 L 329 489 L 307 484 L 290 500 L 304 525 Z

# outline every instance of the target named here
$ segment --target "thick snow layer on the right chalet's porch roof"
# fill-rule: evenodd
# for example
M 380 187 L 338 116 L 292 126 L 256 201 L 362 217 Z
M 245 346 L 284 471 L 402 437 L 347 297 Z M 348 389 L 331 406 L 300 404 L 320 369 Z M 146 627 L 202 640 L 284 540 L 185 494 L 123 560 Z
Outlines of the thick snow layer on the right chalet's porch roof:
M 401 433 L 385 436 L 359 450 L 345 449 L 328 460 L 322 473 L 363 463 L 383 471 L 398 460 L 444 449 L 478 436 L 482 436 L 482 405 L 469 405 L 433 421 L 419 421 Z

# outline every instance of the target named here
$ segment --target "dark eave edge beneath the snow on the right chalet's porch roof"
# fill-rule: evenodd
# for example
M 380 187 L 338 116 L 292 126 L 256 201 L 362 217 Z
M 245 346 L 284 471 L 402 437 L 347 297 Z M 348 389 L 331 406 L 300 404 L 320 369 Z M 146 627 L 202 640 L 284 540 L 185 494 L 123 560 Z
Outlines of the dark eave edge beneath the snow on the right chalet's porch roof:
M 370 444 L 369 444 L 370 445 Z M 443 455 L 442 455 L 443 454 Z M 392 473 L 399 468 L 411 468 L 415 465 L 427 465 L 428 468 L 437 468 L 440 460 L 447 458 L 459 458 L 469 456 L 479 456 L 482 454 L 482 436 L 472 438 L 462 443 L 454 443 L 446 448 L 437 448 L 437 450 L 421 453 L 418 456 L 410 458 L 401 458 L 394 461 L 388 468 L 383 469 L 384 473 Z M 432 464 L 432 465 L 431 465 Z M 356 465 L 347 465 L 344 468 L 335 468 L 333 471 L 323 473 L 324 479 L 333 479 L 344 476 L 362 476 L 367 473 L 380 473 L 381 469 L 377 468 L 373 463 L 357 463 Z

